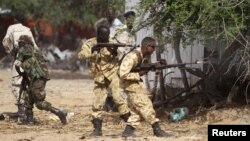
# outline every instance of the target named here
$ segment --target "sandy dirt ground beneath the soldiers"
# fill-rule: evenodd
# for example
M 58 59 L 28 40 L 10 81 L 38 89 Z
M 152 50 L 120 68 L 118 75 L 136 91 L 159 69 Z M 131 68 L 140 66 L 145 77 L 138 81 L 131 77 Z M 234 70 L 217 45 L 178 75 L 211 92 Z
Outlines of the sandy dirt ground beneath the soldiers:
M 11 72 L 0 70 L 0 112 L 14 112 L 15 99 L 10 89 Z M 113 112 L 104 113 L 103 136 L 90 137 L 93 130 L 91 120 L 93 81 L 88 72 L 52 71 L 52 79 L 47 83 L 47 101 L 55 107 L 71 113 L 67 125 L 51 113 L 34 108 L 34 117 L 38 124 L 33 126 L 18 125 L 16 121 L 0 121 L 1 141 L 204 141 L 207 140 L 208 124 L 249 124 L 248 106 L 210 110 L 197 116 L 188 115 L 179 122 L 170 122 L 167 117 L 161 118 L 161 127 L 172 134 L 169 138 L 157 138 L 150 126 L 142 122 L 136 130 L 136 137 L 122 138 L 125 123 Z M 74 114 L 74 115 L 73 115 Z

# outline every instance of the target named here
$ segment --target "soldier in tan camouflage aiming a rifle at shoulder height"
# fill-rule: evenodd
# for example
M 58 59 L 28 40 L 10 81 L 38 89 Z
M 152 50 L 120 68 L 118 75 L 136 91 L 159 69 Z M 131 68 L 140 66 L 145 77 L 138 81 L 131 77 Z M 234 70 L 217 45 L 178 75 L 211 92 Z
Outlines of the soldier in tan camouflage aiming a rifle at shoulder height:
M 110 88 L 114 102 L 118 107 L 121 118 L 127 121 L 130 110 L 128 109 L 125 100 L 120 96 L 118 60 L 114 50 L 102 48 L 100 51 L 91 53 L 91 48 L 96 43 L 110 43 L 109 27 L 99 26 L 97 28 L 97 37 L 87 40 L 78 53 L 80 60 L 89 59 L 90 69 L 94 76 L 94 101 L 92 106 L 92 123 L 94 130 L 92 136 L 102 135 L 102 109 L 107 97 L 106 90 Z

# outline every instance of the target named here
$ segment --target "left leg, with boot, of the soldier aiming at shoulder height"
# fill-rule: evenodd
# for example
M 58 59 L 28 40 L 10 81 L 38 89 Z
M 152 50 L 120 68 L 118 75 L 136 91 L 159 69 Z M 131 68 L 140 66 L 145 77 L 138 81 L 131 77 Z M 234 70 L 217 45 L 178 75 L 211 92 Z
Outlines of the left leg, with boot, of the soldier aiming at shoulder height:
M 107 97 L 106 85 L 95 82 L 94 83 L 94 99 L 92 105 L 92 123 L 94 130 L 91 136 L 101 136 L 102 135 L 102 109 Z

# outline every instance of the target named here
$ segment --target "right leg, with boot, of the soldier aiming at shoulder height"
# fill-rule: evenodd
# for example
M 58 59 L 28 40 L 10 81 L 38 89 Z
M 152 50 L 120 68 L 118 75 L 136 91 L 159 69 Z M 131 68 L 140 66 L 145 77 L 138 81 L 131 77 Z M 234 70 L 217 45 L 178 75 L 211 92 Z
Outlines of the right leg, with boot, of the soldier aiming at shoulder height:
M 121 115 L 121 117 L 127 122 L 128 117 L 130 115 L 130 110 L 128 108 L 126 99 L 122 97 L 122 90 L 120 88 L 120 82 L 119 82 L 119 77 L 117 74 L 114 74 L 111 82 L 109 84 L 109 87 L 112 90 L 112 96 L 114 99 L 115 104 L 118 107 L 118 111 Z

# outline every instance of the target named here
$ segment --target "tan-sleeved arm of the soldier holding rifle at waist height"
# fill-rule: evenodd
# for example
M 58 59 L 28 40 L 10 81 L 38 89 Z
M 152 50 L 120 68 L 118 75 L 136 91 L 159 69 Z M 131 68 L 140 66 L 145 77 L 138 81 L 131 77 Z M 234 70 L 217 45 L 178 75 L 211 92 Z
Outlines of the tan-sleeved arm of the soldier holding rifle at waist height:
M 119 76 L 124 80 L 135 80 L 140 81 L 140 75 L 138 72 L 131 72 L 132 68 L 138 64 L 138 59 L 136 54 L 129 53 L 122 60 Z

